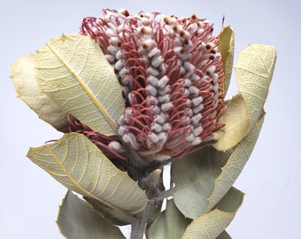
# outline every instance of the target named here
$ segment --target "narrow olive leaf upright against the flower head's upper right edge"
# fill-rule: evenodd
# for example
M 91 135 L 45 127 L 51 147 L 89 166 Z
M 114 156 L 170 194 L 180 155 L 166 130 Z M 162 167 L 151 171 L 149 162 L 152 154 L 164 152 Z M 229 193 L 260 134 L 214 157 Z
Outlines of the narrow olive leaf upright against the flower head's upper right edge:
M 226 93 L 231 80 L 234 59 L 235 38 L 233 29 L 230 26 L 223 27 L 222 31 L 220 32 L 219 38 L 219 50 L 221 54 L 222 68 L 225 74 L 224 90 Z

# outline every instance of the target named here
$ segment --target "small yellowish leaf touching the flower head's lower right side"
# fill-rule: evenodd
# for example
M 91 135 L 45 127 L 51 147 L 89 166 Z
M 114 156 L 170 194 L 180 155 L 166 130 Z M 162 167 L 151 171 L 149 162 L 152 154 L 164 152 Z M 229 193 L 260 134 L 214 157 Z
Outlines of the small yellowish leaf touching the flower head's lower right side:
M 215 149 L 225 151 L 243 140 L 249 129 L 250 118 L 240 93 L 228 101 L 227 111 L 220 118 L 220 123 L 225 124 L 225 126 L 219 131 L 220 139 L 213 143 Z

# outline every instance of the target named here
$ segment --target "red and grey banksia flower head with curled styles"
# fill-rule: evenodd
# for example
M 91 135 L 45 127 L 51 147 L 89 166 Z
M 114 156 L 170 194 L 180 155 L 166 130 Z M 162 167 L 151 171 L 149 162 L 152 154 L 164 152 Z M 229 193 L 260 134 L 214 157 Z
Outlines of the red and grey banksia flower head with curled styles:
M 81 34 L 103 50 L 126 104 L 119 135 L 92 134 L 95 143 L 120 158 L 127 158 L 130 147 L 151 162 L 179 158 L 217 140 L 226 106 L 219 39 L 212 30 L 196 15 L 104 10 L 103 17 L 83 19 Z

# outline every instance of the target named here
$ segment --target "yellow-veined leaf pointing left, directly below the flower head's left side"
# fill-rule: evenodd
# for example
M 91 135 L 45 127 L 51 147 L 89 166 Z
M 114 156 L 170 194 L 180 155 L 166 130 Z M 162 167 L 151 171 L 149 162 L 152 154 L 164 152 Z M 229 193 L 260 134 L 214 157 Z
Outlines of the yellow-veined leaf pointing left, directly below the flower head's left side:
M 114 166 L 85 135 L 66 134 L 56 143 L 30 148 L 27 157 L 67 189 L 117 211 L 138 212 L 148 203 L 137 182 Z

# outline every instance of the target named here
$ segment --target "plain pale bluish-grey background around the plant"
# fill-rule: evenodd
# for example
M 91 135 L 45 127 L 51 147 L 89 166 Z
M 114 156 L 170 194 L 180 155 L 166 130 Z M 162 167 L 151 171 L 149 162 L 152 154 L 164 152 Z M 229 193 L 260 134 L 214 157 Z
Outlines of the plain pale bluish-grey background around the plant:
M 81 19 L 102 9 L 131 13 L 196 13 L 235 30 L 235 58 L 249 43 L 274 44 L 278 59 L 266 102 L 266 121 L 235 187 L 246 193 L 228 233 L 241 238 L 297 238 L 300 234 L 300 4 L 296 1 L 15 0 L 0 4 L 0 238 L 63 238 L 56 226 L 66 189 L 26 158 L 29 146 L 60 134 L 16 98 L 11 64 L 51 37 L 78 33 Z M 234 75 L 235 76 L 235 75 Z M 235 77 L 233 77 L 235 85 Z M 235 94 L 232 85 L 228 97 Z

